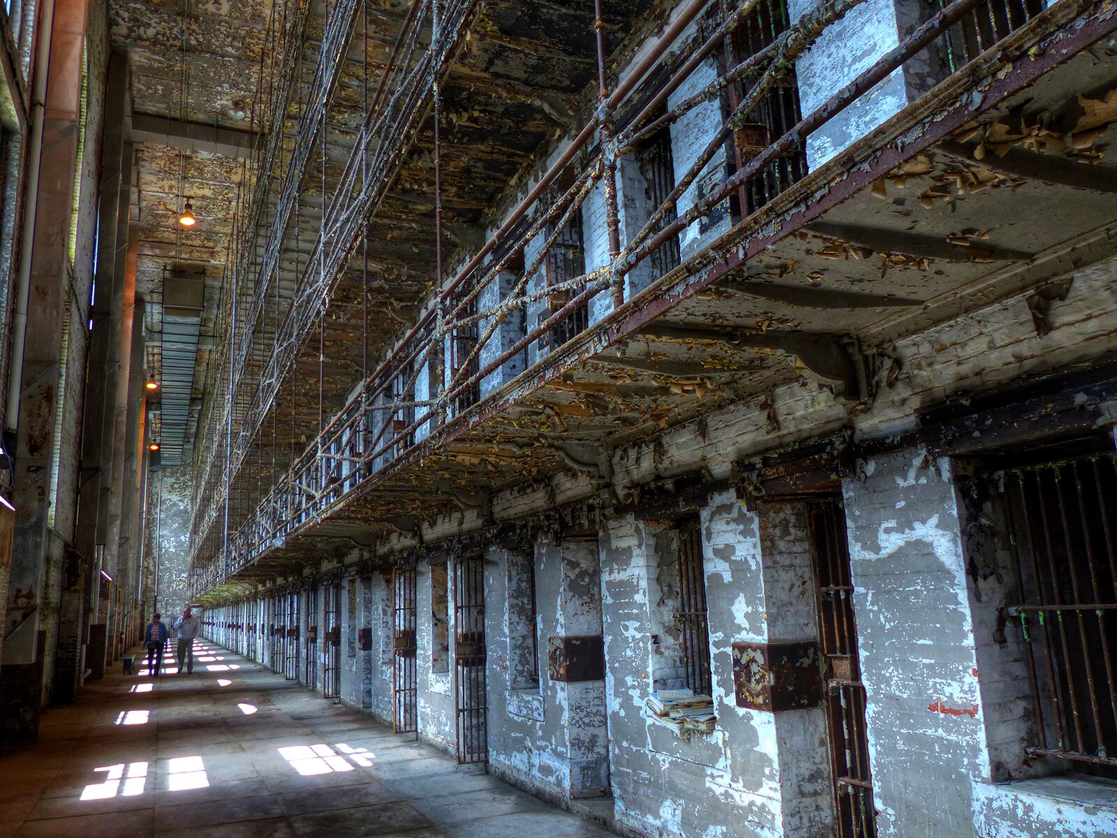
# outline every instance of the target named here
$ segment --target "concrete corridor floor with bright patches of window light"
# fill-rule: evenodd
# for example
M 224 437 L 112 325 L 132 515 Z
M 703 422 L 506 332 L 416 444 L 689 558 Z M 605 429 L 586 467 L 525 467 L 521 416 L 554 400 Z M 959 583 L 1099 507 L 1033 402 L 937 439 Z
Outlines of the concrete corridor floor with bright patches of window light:
M 0 835 L 612 835 L 212 644 L 198 655 L 181 677 L 116 665 L 46 713 L 36 746 L 0 756 Z

